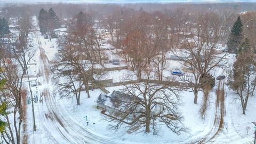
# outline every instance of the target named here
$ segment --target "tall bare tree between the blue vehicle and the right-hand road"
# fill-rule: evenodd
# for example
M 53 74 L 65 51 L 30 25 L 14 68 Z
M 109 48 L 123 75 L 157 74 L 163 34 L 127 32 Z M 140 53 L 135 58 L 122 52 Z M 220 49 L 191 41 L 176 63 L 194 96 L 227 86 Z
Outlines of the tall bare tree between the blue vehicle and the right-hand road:
M 227 53 L 219 55 L 217 50 L 218 20 L 214 13 L 198 15 L 196 27 L 191 31 L 193 37 L 185 37 L 180 42 L 182 54 L 172 51 L 180 61 L 183 61 L 184 67 L 191 70 L 191 73 L 187 74 L 189 76 L 182 76 L 180 79 L 191 85 L 195 95 L 194 103 L 197 103 L 201 77 L 209 74 L 214 68 L 222 66 L 223 58 L 227 55 Z

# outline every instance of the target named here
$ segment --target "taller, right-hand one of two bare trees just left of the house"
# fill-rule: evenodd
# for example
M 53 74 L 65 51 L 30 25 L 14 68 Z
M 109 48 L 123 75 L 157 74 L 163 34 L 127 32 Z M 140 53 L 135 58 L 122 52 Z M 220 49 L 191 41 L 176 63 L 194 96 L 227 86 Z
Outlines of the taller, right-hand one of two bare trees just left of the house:
M 68 34 L 65 36 L 63 47 L 66 52 L 61 55 L 61 59 L 66 61 L 68 65 L 79 71 L 83 78 L 87 97 L 90 97 L 89 82 L 91 81 L 91 73 L 88 71 L 89 63 L 93 64 L 92 55 L 92 29 L 93 21 L 90 15 L 79 12 L 68 26 Z M 91 67 L 91 66 L 89 66 Z

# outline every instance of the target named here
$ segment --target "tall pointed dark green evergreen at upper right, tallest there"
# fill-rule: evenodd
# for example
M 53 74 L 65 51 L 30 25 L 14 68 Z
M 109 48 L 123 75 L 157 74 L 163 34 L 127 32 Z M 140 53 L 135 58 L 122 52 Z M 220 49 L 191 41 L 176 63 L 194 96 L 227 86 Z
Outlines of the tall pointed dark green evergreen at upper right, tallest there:
M 243 22 L 238 16 L 234 26 L 231 30 L 227 45 L 228 45 L 228 52 L 230 53 L 237 53 L 239 49 L 239 45 L 243 41 Z

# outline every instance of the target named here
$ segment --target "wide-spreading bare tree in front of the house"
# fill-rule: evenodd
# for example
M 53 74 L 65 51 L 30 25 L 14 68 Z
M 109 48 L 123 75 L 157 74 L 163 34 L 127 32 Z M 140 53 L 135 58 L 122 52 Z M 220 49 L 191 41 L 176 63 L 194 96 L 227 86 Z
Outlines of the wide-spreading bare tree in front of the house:
M 147 74 L 148 80 L 150 73 Z M 174 133 L 179 134 L 184 130 L 178 109 L 180 97 L 175 87 L 132 81 L 132 84 L 124 85 L 120 92 L 125 94 L 120 99 L 113 98 L 116 109 L 109 111 L 110 119 L 117 122 L 115 129 L 126 123 L 129 132 L 145 127 L 146 133 L 152 129 L 156 133 L 156 125 L 162 122 Z

